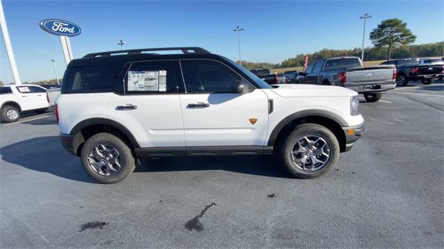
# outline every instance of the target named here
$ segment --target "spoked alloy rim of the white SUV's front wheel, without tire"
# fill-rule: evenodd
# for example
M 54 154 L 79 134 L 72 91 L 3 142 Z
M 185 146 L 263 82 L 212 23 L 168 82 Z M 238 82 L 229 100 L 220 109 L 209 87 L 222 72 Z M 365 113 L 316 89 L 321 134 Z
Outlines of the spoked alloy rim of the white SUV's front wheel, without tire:
M 322 169 L 328 162 L 332 151 L 330 144 L 316 135 L 300 138 L 291 149 L 293 165 L 306 171 Z

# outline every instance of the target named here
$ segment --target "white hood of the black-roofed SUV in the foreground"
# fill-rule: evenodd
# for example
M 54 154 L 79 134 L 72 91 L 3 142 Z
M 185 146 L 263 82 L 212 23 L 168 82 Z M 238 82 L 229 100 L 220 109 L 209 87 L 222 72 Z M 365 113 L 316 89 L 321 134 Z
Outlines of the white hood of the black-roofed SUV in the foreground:
M 292 97 L 351 97 L 358 93 L 341 86 L 319 86 L 314 84 L 275 84 L 271 91 L 283 98 Z

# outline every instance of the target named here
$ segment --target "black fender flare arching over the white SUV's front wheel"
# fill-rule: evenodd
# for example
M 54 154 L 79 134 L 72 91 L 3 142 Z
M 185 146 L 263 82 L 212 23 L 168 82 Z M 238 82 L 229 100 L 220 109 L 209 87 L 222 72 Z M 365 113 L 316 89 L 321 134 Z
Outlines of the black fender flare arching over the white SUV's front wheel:
M 273 131 L 271 131 L 270 138 L 268 138 L 267 146 L 273 146 L 275 144 L 276 138 L 278 138 L 278 135 L 280 131 L 291 121 L 296 120 L 298 118 L 304 118 L 309 116 L 319 116 L 323 118 L 328 118 L 330 120 L 333 120 L 334 122 L 338 123 L 341 127 L 347 127 L 347 122 L 336 113 L 332 113 L 331 111 L 325 111 L 322 109 L 310 109 L 310 110 L 304 110 L 304 111 L 298 111 L 296 113 L 292 113 L 283 120 L 281 120 L 274 128 Z

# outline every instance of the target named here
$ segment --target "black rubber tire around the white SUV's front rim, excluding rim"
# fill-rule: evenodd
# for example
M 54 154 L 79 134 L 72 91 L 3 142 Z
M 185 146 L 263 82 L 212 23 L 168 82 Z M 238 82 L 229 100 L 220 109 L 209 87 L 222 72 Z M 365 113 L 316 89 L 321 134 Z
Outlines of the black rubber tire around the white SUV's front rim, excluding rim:
M 293 149 L 293 146 L 296 145 L 296 142 L 298 142 L 300 138 L 310 135 L 321 137 L 330 145 L 330 158 L 328 158 L 327 163 L 321 169 L 318 169 L 316 171 L 300 169 L 293 163 L 291 157 L 291 150 Z M 291 174 L 291 176 L 307 179 L 316 178 L 318 176 L 321 176 L 322 174 L 330 172 L 330 170 L 334 167 L 334 165 L 336 165 L 339 160 L 339 151 L 339 142 L 332 131 L 330 131 L 330 129 L 327 129 L 320 124 L 307 123 L 298 124 L 295 129 L 289 134 L 289 136 L 287 136 L 287 138 L 282 139 L 279 145 L 277 156 L 284 168 L 287 169 L 287 172 Z

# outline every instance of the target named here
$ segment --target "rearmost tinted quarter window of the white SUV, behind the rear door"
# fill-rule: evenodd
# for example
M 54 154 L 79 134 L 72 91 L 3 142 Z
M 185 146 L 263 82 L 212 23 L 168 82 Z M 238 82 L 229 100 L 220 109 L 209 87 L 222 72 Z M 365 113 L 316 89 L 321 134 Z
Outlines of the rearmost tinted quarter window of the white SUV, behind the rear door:
M 67 68 L 61 93 L 104 93 L 112 91 L 122 64 Z

